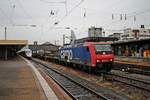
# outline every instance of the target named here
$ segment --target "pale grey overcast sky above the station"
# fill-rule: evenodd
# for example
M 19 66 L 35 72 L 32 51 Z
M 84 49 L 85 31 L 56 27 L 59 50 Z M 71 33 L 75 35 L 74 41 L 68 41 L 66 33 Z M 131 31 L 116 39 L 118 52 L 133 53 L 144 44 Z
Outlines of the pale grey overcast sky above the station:
M 150 0 L 0 0 L 0 39 L 4 39 L 4 27 L 8 39 L 57 40 L 59 44 L 63 34 L 70 34 L 65 27 L 71 27 L 77 38 L 86 37 L 91 26 L 103 27 L 107 35 L 141 24 L 150 28 L 149 5 Z

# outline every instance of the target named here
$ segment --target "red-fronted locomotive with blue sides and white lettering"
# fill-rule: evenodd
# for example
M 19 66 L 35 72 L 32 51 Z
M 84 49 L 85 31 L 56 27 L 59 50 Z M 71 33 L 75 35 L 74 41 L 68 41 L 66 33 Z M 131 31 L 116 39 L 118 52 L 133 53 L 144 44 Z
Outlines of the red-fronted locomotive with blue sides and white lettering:
M 85 38 L 58 50 L 58 61 L 89 70 L 109 72 L 113 68 L 112 38 Z M 91 42 L 92 41 L 92 42 Z M 97 42 L 101 41 L 101 42 Z

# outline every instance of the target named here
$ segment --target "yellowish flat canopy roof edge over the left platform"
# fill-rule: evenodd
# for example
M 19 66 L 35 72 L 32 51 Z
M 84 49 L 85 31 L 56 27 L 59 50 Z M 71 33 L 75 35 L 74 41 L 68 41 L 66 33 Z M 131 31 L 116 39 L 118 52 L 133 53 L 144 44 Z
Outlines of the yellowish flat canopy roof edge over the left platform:
M 0 40 L 0 45 L 27 45 L 27 40 Z

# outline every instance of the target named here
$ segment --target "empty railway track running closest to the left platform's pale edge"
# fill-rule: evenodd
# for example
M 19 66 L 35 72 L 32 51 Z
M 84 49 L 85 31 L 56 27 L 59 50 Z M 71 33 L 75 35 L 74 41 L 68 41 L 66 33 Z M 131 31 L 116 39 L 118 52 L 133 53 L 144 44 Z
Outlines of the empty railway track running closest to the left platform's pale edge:
M 34 61 L 35 62 L 35 61 Z M 39 63 L 43 65 L 47 74 L 67 92 L 74 100 L 109 100 L 109 98 L 96 93 L 95 91 L 91 90 L 90 88 L 82 85 L 79 82 L 76 82 L 70 76 L 62 74 L 57 70 L 51 69 L 47 65 Z

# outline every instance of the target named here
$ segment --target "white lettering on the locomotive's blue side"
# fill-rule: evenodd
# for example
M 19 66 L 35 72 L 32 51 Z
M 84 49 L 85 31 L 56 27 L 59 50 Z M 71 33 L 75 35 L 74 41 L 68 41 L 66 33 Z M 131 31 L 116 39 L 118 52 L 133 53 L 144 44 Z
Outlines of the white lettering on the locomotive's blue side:
M 61 50 L 60 51 L 61 59 L 71 60 L 73 57 L 72 50 Z

